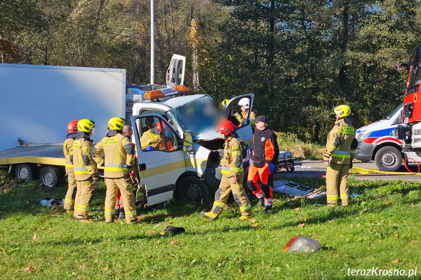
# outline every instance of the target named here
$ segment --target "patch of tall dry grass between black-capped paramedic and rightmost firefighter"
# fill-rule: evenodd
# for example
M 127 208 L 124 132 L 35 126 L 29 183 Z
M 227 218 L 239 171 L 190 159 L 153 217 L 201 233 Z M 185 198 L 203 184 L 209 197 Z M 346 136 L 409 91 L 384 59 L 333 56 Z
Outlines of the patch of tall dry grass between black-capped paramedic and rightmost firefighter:
M 293 133 L 275 132 L 275 134 L 281 151 L 293 151 L 294 156 L 299 160 L 321 160 L 323 158 L 324 145 L 304 143 Z

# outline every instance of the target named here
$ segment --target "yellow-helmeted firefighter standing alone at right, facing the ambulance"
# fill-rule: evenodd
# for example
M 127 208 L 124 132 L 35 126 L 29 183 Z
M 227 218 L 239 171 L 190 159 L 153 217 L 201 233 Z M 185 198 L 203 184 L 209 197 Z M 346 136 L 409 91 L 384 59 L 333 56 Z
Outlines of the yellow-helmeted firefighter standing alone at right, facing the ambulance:
M 346 207 L 349 201 L 348 170 L 352 168 L 352 160 L 358 146 L 355 129 L 351 120 L 351 108 L 340 105 L 333 109 L 336 122 L 327 135 L 326 151 L 323 163 L 326 170 L 327 205 L 334 207 L 341 199 Z

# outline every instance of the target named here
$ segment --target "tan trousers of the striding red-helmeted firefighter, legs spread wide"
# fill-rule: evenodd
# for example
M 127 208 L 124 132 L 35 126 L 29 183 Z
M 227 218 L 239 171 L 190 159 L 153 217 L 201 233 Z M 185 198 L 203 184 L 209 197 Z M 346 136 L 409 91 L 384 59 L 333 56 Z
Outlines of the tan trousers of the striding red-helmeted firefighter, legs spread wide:
M 242 187 L 243 178 L 239 178 L 236 184 L 232 183 L 232 179 L 222 176 L 221 184 L 215 192 L 215 202 L 212 207 L 212 212 L 221 214 L 226 202 L 228 201 L 229 194 L 232 192 L 235 202 L 240 206 L 241 216 L 249 216 L 251 214 L 251 205 L 248 200 L 247 194 Z

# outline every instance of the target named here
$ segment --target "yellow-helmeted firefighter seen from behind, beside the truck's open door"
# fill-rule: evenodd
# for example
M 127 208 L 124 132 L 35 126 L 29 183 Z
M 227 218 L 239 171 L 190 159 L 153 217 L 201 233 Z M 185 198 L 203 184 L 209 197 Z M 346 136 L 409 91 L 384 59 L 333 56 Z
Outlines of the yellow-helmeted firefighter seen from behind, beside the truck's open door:
M 127 224 L 138 222 L 133 184 L 130 178 L 130 169 L 135 160 L 135 147 L 127 135 L 121 134 L 125 120 L 120 117 L 108 121 L 108 133 L 95 145 L 92 156 L 95 161 L 104 166 L 104 178 L 107 185 L 105 195 L 105 223 L 114 220 L 115 205 L 118 191 L 123 200 L 124 214 Z M 103 152 L 103 157 L 101 153 Z

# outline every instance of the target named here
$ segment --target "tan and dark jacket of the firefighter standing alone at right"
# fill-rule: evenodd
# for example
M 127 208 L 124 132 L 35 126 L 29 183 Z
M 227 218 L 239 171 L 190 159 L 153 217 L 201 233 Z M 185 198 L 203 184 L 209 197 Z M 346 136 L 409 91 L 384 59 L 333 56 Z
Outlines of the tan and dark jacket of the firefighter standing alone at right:
M 336 164 L 350 164 L 357 146 L 354 127 L 346 123 L 344 119 L 340 119 L 335 122 L 335 126 L 327 136 L 323 160 Z

